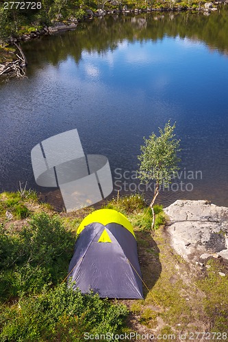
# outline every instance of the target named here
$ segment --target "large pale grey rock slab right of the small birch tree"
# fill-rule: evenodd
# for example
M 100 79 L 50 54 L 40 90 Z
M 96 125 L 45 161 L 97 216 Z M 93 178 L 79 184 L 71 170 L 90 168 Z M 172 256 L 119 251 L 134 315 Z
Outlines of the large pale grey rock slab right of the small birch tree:
M 227 250 L 228 208 L 206 200 L 177 200 L 164 212 L 170 220 L 171 244 L 184 259 Z

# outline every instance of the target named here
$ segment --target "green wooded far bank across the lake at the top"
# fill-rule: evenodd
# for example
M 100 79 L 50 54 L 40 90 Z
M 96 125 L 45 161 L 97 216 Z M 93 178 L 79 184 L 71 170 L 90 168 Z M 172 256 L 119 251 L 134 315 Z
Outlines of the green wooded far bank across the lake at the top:
M 196 10 L 210 13 L 218 10 L 221 2 L 206 0 L 42 0 L 34 2 L 5 1 L 0 5 L 0 41 L 2 46 L 10 38 L 42 31 L 62 22 L 73 25 L 84 18 L 106 13 L 136 14 L 151 10 Z M 45 32 L 43 32 L 45 33 Z

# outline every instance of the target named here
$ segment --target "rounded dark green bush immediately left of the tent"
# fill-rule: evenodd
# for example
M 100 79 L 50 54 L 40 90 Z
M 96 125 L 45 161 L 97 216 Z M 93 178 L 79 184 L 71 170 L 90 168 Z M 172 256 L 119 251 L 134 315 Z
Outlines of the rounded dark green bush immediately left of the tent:
M 23 239 L 23 261 L 45 267 L 54 283 L 64 276 L 73 254 L 75 236 L 66 231 L 57 216 L 34 215 L 20 236 Z

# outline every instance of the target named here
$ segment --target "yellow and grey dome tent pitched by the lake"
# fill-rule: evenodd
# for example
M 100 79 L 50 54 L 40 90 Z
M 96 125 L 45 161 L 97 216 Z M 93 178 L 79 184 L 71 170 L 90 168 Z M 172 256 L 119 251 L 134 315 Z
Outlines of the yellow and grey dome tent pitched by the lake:
M 73 288 L 101 298 L 142 299 L 137 242 L 122 213 L 99 209 L 81 222 L 68 270 Z

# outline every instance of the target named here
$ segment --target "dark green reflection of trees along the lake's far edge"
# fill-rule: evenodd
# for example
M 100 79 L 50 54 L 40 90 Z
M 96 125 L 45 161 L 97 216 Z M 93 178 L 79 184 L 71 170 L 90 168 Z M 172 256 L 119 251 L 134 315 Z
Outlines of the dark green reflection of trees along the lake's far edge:
M 156 41 L 164 36 L 199 40 L 227 54 L 227 14 L 223 8 L 210 16 L 181 12 L 107 16 L 81 23 L 75 31 L 27 42 L 23 49 L 36 68 L 44 62 L 57 65 L 68 56 L 79 62 L 81 51 L 113 51 L 123 40 Z

